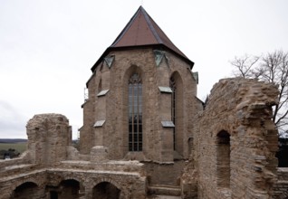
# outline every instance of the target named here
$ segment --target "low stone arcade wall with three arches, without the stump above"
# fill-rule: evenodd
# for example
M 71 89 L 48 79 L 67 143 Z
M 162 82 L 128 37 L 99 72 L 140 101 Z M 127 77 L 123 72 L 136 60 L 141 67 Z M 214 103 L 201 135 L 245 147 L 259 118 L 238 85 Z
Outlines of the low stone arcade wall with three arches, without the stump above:
M 34 169 L 1 177 L 0 198 L 50 198 L 56 193 L 59 198 L 91 199 L 93 188 L 103 182 L 116 186 L 120 198 L 146 198 L 146 177 L 138 172 L 75 168 Z

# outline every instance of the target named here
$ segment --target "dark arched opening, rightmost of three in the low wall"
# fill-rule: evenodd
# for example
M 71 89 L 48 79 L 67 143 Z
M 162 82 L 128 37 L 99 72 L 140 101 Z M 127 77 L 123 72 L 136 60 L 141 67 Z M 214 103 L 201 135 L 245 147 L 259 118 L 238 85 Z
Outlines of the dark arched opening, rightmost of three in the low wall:
M 93 199 L 118 199 L 120 189 L 108 182 L 102 182 L 93 188 Z

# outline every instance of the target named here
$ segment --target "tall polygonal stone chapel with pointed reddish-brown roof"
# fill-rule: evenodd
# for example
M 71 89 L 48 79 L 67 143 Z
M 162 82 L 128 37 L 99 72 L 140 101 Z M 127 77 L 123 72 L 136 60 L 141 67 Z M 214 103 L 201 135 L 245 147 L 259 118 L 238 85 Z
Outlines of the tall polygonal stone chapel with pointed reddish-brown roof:
M 153 182 L 175 184 L 203 109 L 193 65 L 139 7 L 91 68 L 80 152 L 107 147 L 110 159 L 145 162 Z

